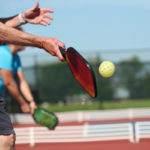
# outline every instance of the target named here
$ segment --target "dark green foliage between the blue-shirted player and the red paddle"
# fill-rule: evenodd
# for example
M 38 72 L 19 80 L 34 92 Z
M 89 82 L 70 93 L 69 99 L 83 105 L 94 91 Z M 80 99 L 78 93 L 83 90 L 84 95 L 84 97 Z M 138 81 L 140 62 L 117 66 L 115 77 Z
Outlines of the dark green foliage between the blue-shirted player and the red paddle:
M 65 101 L 66 96 L 83 92 L 66 63 L 47 64 L 39 68 L 37 82 L 43 101 Z

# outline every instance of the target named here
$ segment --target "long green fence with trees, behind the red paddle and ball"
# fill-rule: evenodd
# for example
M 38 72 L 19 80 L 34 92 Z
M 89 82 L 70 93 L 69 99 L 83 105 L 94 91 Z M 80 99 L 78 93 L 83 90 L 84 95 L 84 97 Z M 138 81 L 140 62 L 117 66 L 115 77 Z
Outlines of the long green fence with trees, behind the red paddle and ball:
M 140 62 L 137 57 L 121 61 L 115 63 L 116 71 L 111 78 L 102 78 L 98 73 L 101 59 L 89 61 L 97 83 L 98 96 L 94 101 L 150 98 L 150 62 Z M 91 100 L 74 79 L 67 63 L 51 62 L 26 67 L 24 75 L 37 103 L 77 103 Z M 14 100 L 7 99 L 8 105 L 18 105 Z M 15 112 L 16 109 L 11 111 Z

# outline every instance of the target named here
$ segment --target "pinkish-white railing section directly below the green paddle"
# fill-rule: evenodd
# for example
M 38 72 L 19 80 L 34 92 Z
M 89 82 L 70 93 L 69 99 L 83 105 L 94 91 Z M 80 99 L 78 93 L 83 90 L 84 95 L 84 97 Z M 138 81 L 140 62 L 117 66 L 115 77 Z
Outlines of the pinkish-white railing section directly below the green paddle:
M 55 130 L 45 127 L 15 128 L 16 144 L 34 146 L 35 143 L 79 142 L 85 141 L 84 126 L 58 126 Z

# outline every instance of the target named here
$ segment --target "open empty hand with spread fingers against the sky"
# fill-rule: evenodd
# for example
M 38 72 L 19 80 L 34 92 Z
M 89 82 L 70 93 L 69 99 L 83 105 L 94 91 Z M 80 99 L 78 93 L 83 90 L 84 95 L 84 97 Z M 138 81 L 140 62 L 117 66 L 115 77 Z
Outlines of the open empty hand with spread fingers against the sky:
M 49 20 L 53 20 L 53 17 L 48 13 L 53 13 L 53 10 L 50 8 L 39 8 L 39 2 L 36 2 L 33 8 L 22 13 L 22 17 L 28 23 L 46 26 L 50 25 Z

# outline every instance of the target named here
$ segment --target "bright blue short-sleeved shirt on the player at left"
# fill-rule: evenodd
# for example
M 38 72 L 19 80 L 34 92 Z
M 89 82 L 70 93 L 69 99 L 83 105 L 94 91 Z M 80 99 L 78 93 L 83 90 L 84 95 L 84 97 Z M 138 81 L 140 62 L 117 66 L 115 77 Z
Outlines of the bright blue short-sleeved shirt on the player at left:
M 7 45 L 0 46 L 0 69 L 12 71 L 14 77 L 17 73 L 17 70 L 22 70 L 19 55 L 12 55 Z M 0 96 L 3 96 L 4 90 L 5 86 L 2 81 L 2 76 L 0 74 Z

